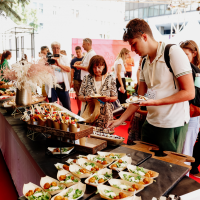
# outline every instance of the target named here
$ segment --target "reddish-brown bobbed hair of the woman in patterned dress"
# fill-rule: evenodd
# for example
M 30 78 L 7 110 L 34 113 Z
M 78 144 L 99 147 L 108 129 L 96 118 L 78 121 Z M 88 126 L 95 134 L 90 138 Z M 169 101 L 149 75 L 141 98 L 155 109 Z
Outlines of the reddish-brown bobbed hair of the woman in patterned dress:
M 94 66 L 105 66 L 103 71 L 102 71 L 102 75 L 105 75 L 108 71 L 108 67 L 106 64 L 105 59 L 102 56 L 96 55 L 93 56 L 90 60 L 89 66 L 88 66 L 88 72 L 94 76 L 94 71 L 93 71 L 93 67 Z

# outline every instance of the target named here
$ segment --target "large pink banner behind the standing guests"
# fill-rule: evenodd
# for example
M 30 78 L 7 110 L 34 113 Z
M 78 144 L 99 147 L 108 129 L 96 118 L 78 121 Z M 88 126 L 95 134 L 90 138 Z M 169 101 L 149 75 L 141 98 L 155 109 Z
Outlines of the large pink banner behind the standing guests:
M 73 38 L 72 39 L 72 53 L 75 53 L 75 47 L 81 46 L 82 48 L 83 39 L 81 38 Z M 92 49 L 96 52 L 97 55 L 101 55 L 105 58 L 106 63 L 108 65 L 108 71 L 111 70 L 117 55 L 119 54 L 122 48 L 127 48 L 131 51 L 131 47 L 128 42 L 124 42 L 122 40 L 105 40 L 105 39 L 92 39 Z M 84 51 L 84 49 L 82 48 Z M 135 52 L 131 52 L 131 56 L 134 61 L 139 60 L 139 56 L 135 54 Z

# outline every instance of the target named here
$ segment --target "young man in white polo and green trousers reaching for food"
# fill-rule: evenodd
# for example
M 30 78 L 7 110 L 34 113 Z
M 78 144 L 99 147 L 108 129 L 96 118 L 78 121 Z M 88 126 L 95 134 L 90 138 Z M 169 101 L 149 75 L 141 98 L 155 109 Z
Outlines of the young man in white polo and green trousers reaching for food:
M 146 56 L 140 72 L 138 95 L 143 96 L 148 89 L 153 99 L 140 105 L 131 104 L 120 119 L 110 122 L 110 127 L 119 126 L 139 106 L 147 106 L 148 115 L 142 127 L 142 141 L 156 144 L 160 150 L 181 153 L 190 118 L 188 101 L 195 96 L 187 56 L 180 47 L 171 46 L 169 58 L 173 76 L 164 59 L 166 45 L 155 41 L 149 25 L 141 19 L 133 19 L 127 24 L 123 40 L 129 42 L 132 51 L 142 57 Z

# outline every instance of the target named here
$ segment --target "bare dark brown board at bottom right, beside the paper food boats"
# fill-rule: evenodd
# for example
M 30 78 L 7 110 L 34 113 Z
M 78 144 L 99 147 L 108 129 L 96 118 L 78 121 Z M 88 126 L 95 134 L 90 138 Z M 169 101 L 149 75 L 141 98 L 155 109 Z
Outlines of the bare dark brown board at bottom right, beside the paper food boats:
M 167 194 L 184 176 L 189 172 L 187 167 L 165 162 L 155 158 L 150 158 L 143 162 L 139 167 L 144 167 L 159 173 L 155 181 L 139 192 L 142 200 L 149 200 L 153 197 L 159 198 Z

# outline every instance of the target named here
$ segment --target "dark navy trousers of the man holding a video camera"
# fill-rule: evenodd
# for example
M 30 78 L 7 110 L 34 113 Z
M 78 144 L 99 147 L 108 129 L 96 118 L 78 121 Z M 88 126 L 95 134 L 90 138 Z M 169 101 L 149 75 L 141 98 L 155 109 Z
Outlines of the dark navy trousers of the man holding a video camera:
M 49 102 L 55 102 L 57 101 L 57 98 L 59 98 L 63 107 L 71 111 L 69 91 L 62 91 L 59 88 L 56 88 L 56 89 L 51 88 L 51 98 L 49 98 Z

